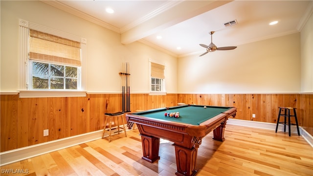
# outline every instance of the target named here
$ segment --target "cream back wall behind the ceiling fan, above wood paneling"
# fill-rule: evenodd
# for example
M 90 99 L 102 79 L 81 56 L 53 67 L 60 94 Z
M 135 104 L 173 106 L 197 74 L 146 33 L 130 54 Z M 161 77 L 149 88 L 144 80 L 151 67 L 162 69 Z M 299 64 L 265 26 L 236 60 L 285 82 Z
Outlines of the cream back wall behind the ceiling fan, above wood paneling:
M 180 93 L 300 92 L 300 33 L 199 55 L 179 58 Z

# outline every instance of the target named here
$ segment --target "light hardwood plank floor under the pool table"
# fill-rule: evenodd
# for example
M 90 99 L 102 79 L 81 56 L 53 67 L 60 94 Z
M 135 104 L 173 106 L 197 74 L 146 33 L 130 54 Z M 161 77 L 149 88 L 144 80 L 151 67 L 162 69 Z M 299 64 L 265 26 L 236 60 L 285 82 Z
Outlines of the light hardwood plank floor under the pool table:
M 161 140 L 155 163 L 143 159 L 138 130 L 43 154 L 1 167 L 1 176 L 174 176 L 175 150 Z M 197 176 L 313 176 L 313 148 L 301 137 L 226 125 L 224 142 L 213 133 L 198 150 Z M 18 174 L 20 172 L 21 174 Z

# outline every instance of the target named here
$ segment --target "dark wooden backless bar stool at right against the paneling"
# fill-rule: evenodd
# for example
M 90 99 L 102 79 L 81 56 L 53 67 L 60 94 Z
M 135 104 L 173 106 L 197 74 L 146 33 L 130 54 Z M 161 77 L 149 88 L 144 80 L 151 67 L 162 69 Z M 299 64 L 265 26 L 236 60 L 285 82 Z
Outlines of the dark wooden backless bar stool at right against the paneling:
M 284 132 L 286 132 L 286 125 L 288 125 L 288 132 L 289 132 L 289 136 L 291 136 L 291 125 L 296 125 L 297 126 L 297 131 L 298 131 L 298 135 L 300 135 L 299 132 L 299 125 L 298 125 L 298 119 L 297 119 L 297 113 L 295 112 L 296 108 L 291 108 L 291 107 L 278 107 L 279 108 L 279 113 L 278 113 L 278 118 L 277 118 L 277 124 L 276 124 L 276 131 L 278 129 L 278 124 L 284 124 Z M 282 113 L 282 110 L 284 110 L 284 113 Z M 293 115 L 290 114 L 290 110 L 293 110 Z M 280 122 L 280 116 L 284 117 L 284 122 Z M 290 117 L 294 117 L 295 119 L 295 124 L 290 122 Z M 288 124 L 287 124 L 287 119 L 288 118 Z

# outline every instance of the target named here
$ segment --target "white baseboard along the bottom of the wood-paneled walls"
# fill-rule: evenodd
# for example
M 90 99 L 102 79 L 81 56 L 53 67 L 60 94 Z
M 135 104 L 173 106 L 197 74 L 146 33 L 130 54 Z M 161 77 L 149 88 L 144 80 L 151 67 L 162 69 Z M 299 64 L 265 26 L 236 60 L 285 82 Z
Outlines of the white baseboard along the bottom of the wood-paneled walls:
M 276 124 L 273 123 L 264 123 L 264 122 L 254 122 L 247 120 L 237 120 L 237 119 L 228 119 L 227 124 L 229 125 L 238 125 L 245 127 L 261 128 L 275 131 Z M 283 125 L 281 125 L 283 127 Z M 282 127 L 279 126 L 278 130 L 282 131 Z M 306 141 L 313 147 L 313 137 L 304 129 L 299 127 L 300 135 L 302 135 Z M 128 130 L 129 131 L 129 130 Z M 288 131 L 288 128 L 287 128 Z M 53 151 L 61 150 L 67 147 L 79 145 L 89 141 L 101 139 L 103 130 L 98 130 L 95 132 L 88 132 L 80 135 L 75 135 L 63 139 L 58 139 L 50 142 L 45 142 L 41 144 L 36 144 L 28 147 L 23 147 L 19 149 L 14 149 L 6 152 L 0 153 L 0 166 L 21 161 L 27 158 L 35 157 L 41 154 L 50 153 Z M 295 127 L 291 128 L 292 133 L 297 133 Z M 106 135 L 105 137 L 107 137 Z

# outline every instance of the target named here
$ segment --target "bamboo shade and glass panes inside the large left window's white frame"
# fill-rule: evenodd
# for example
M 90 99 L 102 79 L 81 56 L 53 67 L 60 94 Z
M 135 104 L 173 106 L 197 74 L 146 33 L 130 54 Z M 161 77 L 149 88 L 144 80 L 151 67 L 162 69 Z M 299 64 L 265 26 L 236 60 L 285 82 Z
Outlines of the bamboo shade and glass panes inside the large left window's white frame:
M 29 89 L 81 89 L 80 53 L 79 42 L 29 29 Z

